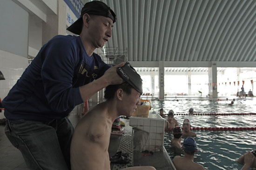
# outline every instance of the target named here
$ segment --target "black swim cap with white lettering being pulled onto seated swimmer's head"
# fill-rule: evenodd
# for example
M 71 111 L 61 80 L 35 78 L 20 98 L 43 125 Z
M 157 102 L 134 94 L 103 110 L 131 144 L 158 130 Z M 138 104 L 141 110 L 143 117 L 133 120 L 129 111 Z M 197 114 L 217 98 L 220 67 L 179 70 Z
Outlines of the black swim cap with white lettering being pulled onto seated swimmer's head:
M 130 65 L 130 63 L 126 62 L 124 66 L 117 68 L 116 72 L 124 81 L 128 82 L 129 85 L 135 88 L 135 90 L 137 90 L 140 94 L 143 93 L 141 76 Z

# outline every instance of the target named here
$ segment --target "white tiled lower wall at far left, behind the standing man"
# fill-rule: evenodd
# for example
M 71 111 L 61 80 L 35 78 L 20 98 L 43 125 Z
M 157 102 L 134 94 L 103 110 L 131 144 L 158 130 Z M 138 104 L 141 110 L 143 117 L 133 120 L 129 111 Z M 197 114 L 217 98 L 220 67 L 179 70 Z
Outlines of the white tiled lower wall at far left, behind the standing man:
M 0 80 L 0 98 L 3 100 L 28 66 L 28 59 L 0 50 L 0 71 L 5 80 Z M 0 113 L 0 119 L 3 112 Z

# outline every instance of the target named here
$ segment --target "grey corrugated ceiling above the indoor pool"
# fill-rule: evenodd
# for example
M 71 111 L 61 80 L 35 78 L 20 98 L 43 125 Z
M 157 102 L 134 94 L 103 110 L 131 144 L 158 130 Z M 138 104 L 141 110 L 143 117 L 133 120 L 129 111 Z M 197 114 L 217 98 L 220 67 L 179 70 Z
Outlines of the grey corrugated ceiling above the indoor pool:
M 128 61 L 256 62 L 256 0 L 101 1 L 117 15 L 105 47 Z

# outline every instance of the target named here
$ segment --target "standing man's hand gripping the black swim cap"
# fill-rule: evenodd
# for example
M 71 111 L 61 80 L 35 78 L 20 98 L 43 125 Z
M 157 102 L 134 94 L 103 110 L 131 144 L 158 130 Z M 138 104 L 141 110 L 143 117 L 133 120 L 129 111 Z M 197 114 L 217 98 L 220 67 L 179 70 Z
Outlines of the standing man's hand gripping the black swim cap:
M 116 69 L 118 67 L 122 67 L 123 65 L 124 65 L 124 62 L 119 63 L 118 65 L 115 65 L 115 66 L 109 68 L 104 73 L 103 76 L 106 78 L 106 80 L 108 80 L 109 85 L 121 84 L 122 82 L 124 82 L 124 80 L 116 72 Z

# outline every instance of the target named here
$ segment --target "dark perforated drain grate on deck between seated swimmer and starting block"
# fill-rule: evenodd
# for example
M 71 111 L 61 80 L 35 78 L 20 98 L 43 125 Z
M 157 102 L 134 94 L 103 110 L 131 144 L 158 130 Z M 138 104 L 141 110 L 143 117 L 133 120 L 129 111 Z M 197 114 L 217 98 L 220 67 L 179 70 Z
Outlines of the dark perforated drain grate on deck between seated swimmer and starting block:
M 131 160 L 128 164 L 115 164 L 112 170 L 121 170 L 123 168 L 128 168 L 133 166 L 133 138 L 134 138 L 134 130 L 132 126 L 129 126 L 129 120 L 121 119 L 124 123 L 124 134 L 121 137 L 121 141 L 119 144 L 119 148 L 117 151 L 122 151 L 123 153 L 129 154 L 129 159 Z

